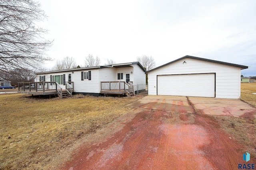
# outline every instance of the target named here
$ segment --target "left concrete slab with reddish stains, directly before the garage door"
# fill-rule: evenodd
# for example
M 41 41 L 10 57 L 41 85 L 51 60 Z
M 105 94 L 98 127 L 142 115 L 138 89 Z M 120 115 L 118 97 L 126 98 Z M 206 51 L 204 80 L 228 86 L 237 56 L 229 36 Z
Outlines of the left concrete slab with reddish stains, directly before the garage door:
M 193 113 L 192 106 L 184 96 L 145 96 L 144 98 L 128 104 L 130 107 L 141 107 L 144 109 L 157 109 L 163 111 L 176 111 L 180 113 Z

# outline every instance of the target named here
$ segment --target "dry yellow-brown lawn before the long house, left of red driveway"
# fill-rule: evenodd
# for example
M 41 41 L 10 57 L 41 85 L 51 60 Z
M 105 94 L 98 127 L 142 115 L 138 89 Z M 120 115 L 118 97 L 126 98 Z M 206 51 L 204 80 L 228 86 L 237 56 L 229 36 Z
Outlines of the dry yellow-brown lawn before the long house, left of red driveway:
M 125 105 L 139 98 L 0 95 L 0 169 L 49 168 L 79 139 L 131 111 Z

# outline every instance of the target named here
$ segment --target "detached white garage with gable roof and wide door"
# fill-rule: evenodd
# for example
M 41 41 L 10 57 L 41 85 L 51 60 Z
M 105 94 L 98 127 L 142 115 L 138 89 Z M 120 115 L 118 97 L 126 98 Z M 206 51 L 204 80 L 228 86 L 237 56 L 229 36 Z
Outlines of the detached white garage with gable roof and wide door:
M 148 94 L 239 99 L 241 69 L 245 68 L 186 55 L 146 72 Z

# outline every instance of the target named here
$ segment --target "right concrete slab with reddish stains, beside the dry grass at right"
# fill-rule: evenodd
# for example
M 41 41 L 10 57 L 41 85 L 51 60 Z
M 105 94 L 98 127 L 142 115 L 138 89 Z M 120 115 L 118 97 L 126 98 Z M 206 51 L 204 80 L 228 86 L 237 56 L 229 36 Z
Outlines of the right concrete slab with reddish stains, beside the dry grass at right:
M 188 97 L 190 102 L 202 114 L 226 115 L 232 117 L 256 118 L 256 108 L 239 99 L 216 99 Z

